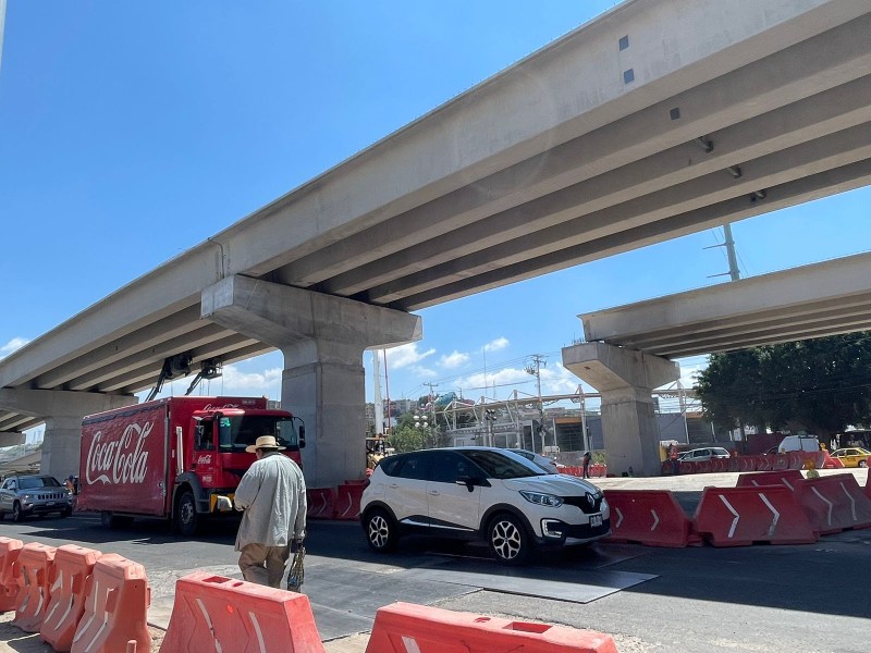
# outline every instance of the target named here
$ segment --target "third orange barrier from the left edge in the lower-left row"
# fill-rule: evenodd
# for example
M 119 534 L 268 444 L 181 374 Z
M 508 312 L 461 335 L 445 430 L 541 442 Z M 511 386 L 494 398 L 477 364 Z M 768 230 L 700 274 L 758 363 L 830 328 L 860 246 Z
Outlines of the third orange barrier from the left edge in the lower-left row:
M 54 552 L 54 583 L 39 637 L 56 651 L 69 651 L 75 629 L 85 613 L 85 582 L 101 553 L 75 544 Z

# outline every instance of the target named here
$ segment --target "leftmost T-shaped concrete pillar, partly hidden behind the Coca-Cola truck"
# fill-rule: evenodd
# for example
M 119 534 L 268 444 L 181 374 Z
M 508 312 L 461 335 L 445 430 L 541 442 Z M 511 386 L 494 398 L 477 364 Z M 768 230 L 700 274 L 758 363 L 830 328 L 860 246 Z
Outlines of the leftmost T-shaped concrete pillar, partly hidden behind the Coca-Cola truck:
M 78 473 L 82 419 L 86 415 L 130 406 L 134 395 L 58 390 L 0 390 L 0 408 L 46 419 L 40 471 L 63 480 Z

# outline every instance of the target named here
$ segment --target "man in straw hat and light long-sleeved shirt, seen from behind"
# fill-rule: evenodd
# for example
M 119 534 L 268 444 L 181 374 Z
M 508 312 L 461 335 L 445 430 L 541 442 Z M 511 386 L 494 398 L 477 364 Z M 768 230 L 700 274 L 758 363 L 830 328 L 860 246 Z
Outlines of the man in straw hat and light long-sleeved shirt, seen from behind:
M 303 471 L 280 454 L 274 436 L 262 435 L 245 451 L 257 455 L 236 489 L 235 505 L 244 510 L 236 535 L 238 567 L 248 582 L 281 586 L 291 543 L 306 534 L 306 482 Z

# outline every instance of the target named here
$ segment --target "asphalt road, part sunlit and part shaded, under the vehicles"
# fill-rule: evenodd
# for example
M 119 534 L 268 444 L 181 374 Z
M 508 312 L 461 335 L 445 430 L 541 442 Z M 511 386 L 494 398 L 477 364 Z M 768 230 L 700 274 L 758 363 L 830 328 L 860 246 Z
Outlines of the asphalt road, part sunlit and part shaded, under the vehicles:
M 736 477 L 600 483 L 667 485 L 691 515 L 701 486 L 734 485 Z M 867 471 L 857 478 L 864 484 Z M 214 525 L 191 541 L 174 538 L 160 522 L 109 531 L 89 516 L 7 520 L 0 534 L 51 545 L 72 542 L 143 564 L 152 586 L 149 620 L 159 625 L 169 619 L 179 577 L 205 569 L 238 578 L 234 523 Z M 475 545 L 408 539 L 395 554 L 378 556 L 355 522 L 312 521 L 306 545 L 304 590 L 331 652 L 364 651 L 365 634 L 346 636 L 368 630 L 375 609 L 393 601 L 608 632 L 622 653 L 864 653 L 871 646 L 871 529 L 793 546 L 599 544 L 510 574 Z M 11 637 L 0 628 L 7 641 L 0 651 L 26 650 Z

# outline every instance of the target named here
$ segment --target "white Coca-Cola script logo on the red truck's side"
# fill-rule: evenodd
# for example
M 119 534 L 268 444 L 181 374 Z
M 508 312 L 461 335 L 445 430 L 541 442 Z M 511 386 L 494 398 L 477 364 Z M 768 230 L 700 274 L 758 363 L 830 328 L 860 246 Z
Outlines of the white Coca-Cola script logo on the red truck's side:
M 118 440 L 107 440 L 102 431 L 97 431 L 85 466 L 88 484 L 142 483 L 148 471 L 148 452 L 144 448 L 151 427 L 154 422 L 127 424 Z

